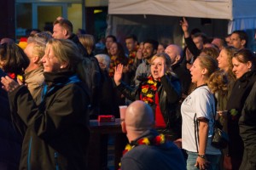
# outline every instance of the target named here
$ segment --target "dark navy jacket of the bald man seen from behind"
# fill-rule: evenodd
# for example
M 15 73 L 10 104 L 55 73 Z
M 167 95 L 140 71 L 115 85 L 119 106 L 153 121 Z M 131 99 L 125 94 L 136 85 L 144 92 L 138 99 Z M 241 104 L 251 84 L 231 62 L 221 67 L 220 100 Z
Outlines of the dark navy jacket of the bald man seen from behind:
M 159 135 L 155 130 L 145 131 L 139 138 L 131 143 L 132 149 L 125 153 L 121 159 L 122 170 L 185 170 L 186 163 L 184 161 L 181 150 L 172 142 L 166 142 L 159 145 L 139 144 L 139 139 L 148 138 L 149 141 Z

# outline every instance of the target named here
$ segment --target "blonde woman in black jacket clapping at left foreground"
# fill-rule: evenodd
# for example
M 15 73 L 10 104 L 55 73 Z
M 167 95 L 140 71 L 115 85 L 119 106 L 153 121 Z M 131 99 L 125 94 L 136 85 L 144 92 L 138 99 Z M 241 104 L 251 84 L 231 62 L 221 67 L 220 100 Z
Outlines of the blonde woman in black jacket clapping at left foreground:
M 74 42 L 49 40 L 39 105 L 25 85 L 2 77 L 11 109 L 27 127 L 20 169 L 87 169 L 90 96 L 77 69 L 82 59 Z

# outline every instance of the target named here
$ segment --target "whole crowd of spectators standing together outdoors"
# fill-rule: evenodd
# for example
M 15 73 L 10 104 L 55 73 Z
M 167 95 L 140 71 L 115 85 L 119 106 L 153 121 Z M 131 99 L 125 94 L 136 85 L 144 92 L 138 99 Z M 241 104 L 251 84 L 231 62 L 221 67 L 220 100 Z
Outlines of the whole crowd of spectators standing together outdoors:
M 246 32 L 222 39 L 189 31 L 185 18 L 180 26 L 185 48 L 131 34 L 125 47 L 108 35 L 99 51 L 61 17 L 25 46 L 3 38 L 0 169 L 87 169 L 90 119 L 129 105 L 120 169 L 256 170 L 256 56 Z M 211 144 L 215 122 L 229 135 L 222 150 Z

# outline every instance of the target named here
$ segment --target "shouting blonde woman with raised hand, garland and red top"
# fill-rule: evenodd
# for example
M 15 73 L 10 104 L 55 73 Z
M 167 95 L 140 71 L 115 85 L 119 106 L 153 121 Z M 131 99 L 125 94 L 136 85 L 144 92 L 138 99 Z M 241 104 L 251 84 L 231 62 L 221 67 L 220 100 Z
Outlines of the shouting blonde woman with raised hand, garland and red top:
M 171 59 L 167 54 L 155 54 L 150 67 L 151 74 L 136 88 L 131 88 L 121 82 L 123 65 L 118 65 L 114 82 L 126 98 L 148 103 L 154 111 L 154 127 L 167 139 L 177 139 L 180 133 L 176 122 L 176 108 L 181 97 L 180 82 L 171 72 Z

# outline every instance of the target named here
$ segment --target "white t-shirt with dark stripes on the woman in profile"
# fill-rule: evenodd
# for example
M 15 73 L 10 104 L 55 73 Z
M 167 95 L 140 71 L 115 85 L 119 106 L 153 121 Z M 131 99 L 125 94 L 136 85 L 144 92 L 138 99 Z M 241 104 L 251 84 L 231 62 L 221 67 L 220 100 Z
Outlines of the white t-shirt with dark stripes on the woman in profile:
M 196 117 L 195 117 L 196 113 Z M 201 86 L 196 88 L 189 96 L 184 99 L 181 106 L 181 114 L 183 117 L 183 126 L 182 126 L 182 140 L 183 140 L 183 149 L 191 152 L 198 152 L 195 144 L 195 135 L 196 141 L 198 144 L 198 130 L 195 131 L 195 119 L 199 117 L 205 117 L 209 120 L 209 132 L 207 139 L 207 150 L 206 154 L 209 155 L 219 155 L 220 150 L 214 148 L 211 145 L 212 133 L 213 133 L 213 113 L 215 113 L 215 100 L 213 94 L 210 93 L 210 90 L 207 86 Z M 198 125 L 199 129 L 199 125 Z M 196 134 L 195 134 L 196 132 Z

